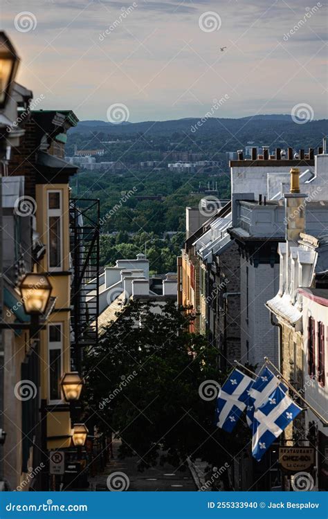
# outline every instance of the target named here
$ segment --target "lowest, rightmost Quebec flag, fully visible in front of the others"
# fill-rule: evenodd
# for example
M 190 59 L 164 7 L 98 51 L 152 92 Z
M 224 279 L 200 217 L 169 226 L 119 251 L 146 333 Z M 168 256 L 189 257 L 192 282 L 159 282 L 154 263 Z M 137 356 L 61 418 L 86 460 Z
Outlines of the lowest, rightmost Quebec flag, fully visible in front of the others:
M 269 395 L 253 416 L 253 457 L 259 460 L 282 431 L 302 411 L 280 387 Z

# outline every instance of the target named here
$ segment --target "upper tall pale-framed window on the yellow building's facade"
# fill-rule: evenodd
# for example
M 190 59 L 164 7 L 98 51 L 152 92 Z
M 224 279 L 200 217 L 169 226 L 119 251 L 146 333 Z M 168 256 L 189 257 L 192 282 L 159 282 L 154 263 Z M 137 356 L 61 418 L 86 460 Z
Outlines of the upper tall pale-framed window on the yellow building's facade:
M 48 266 L 62 268 L 62 193 L 48 191 Z

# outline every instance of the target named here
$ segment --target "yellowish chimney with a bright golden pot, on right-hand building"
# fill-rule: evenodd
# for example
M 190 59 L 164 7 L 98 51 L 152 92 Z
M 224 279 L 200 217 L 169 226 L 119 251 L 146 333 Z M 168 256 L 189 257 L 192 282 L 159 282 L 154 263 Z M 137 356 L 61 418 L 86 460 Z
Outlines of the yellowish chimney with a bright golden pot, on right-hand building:
M 300 233 L 305 231 L 305 199 L 306 194 L 300 193 L 300 170 L 291 168 L 291 192 L 284 194 L 286 242 L 298 245 Z

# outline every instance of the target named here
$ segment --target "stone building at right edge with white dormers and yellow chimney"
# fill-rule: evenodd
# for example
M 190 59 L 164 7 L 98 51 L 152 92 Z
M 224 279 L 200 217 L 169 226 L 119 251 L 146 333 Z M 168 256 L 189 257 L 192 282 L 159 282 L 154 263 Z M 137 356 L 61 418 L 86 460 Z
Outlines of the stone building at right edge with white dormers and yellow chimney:
M 284 195 L 286 242 L 278 246 L 279 290 L 266 307 L 279 331 L 280 372 L 323 415 L 327 425 L 328 235 L 321 233 L 316 238 L 304 233 L 313 208 L 304 203 L 306 195 L 300 193 L 298 176 L 298 170 L 292 169 L 291 192 Z M 326 219 L 322 215 L 320 221 L 325 225 L 328 207 L 323 207 Z M 307 409 L 284 430 L 282 441 L 284 446 L 296 444 L 316 450 L 317 469 L 309 474 L 316 489 L 327 489 L 322 455 L 328 445 L 327 427 L 318 415 Z M 282 475 L 282 486 L 290 487 L 290 477 Z

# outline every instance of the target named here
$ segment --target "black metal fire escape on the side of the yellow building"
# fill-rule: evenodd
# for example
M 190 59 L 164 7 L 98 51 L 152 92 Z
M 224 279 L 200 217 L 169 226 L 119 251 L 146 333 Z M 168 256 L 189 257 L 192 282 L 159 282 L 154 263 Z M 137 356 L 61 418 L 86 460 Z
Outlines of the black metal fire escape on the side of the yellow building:
M 99 221 L 99 200 L 71 199 L 71 358 L 78 372 L 84 347 L 98 342 Z

